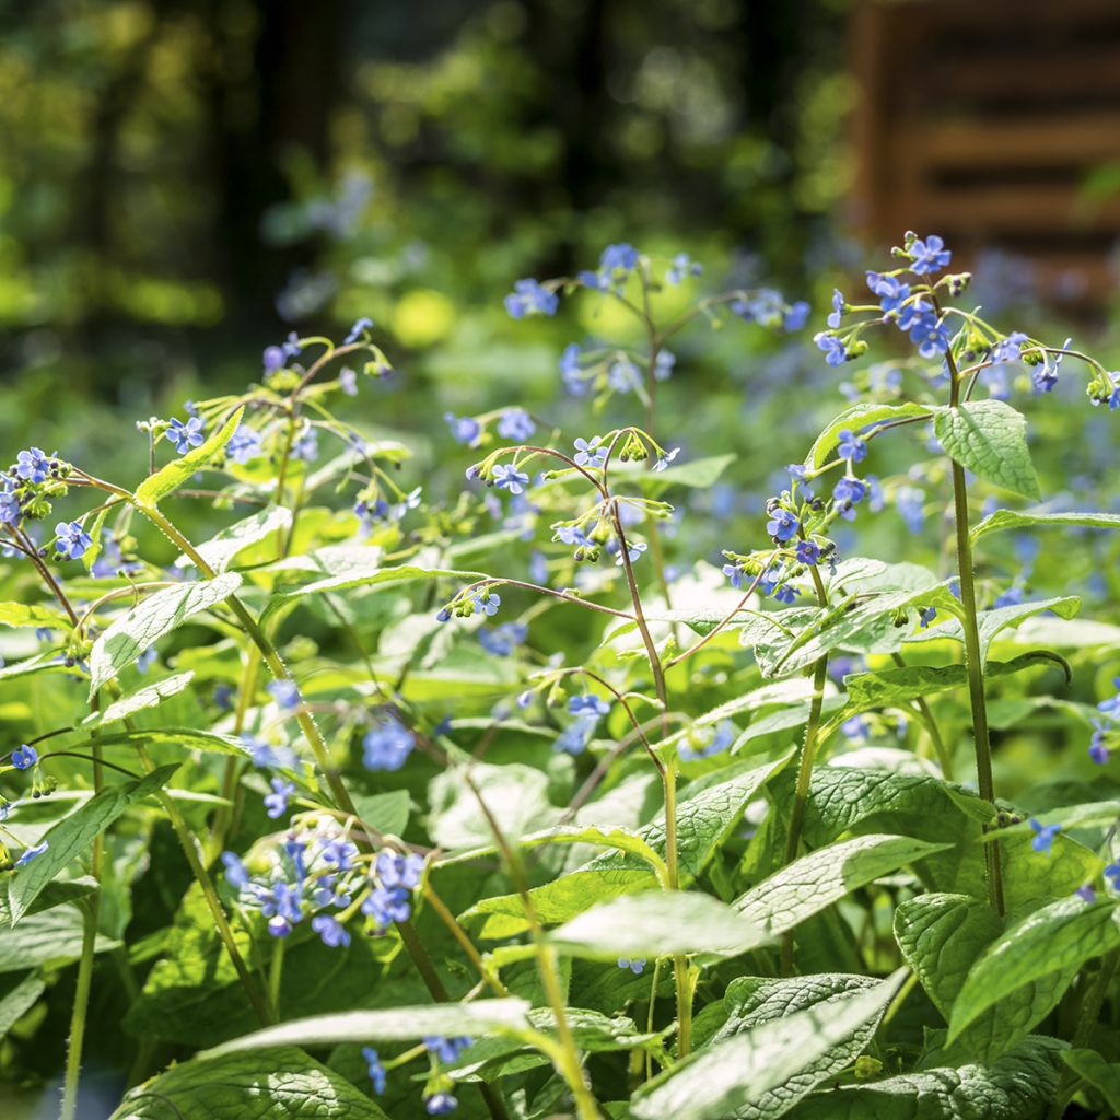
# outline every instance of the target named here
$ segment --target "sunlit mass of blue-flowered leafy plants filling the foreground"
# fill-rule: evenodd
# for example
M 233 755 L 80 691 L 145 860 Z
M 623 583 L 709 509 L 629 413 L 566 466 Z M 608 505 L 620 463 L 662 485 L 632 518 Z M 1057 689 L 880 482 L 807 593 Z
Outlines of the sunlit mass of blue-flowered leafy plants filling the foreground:
M 141 420 L 139 482 L 18 451 L 0 1035 L 63 1117 L 91 1053 L 115 1120 L 1120 1108 L 1120 514 L 1027 441 L 1080 464 L 1120 374 L 936 236 L 877 263 L 819 332 L 623 243 L 517 280 L 525 329 L 594 304 L 580 427 L 437 413 L 454 487 L 367 319 Z M 847 398 L 718 563 L 711 330 Z

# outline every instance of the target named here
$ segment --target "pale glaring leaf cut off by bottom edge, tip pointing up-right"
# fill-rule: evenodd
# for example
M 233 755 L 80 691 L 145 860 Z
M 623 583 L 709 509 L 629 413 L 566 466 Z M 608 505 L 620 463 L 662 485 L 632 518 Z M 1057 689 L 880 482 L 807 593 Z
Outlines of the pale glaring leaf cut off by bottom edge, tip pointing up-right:
M 874 1029 L 905 974 L 900 970 L 874 988 L 769 1019 L 690 1055 L 640 1089 L 631 1112 L 635 1120 L 782 1116 L 803 1079 L 810 1080 L 805 1091 L 815 1082 L 831 1051 L 857 1032 L 866 1036 L 868 1024 Z

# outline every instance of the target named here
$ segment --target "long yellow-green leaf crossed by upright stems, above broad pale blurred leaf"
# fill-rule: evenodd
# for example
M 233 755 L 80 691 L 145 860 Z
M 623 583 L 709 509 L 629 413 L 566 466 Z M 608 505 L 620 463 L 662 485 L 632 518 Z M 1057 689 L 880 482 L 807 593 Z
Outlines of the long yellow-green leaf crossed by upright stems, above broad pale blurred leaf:
M 676 814 L 682 887 L 692 883 L 708 866 L 716 850 L 738 825 L 747 803 L 790 757 L 785 755 L 777 762 L 754 768 L 748 768 L 749 763 L 739 763 L 727 767 L 728 773 L 735 774 L 734 777 L 725 777 L 691 794 L 685 788 Z M 722 773 L 713 776 L 720 778 Z M 640 836 L 664 859 L 663 819 L 645 825 Z M 656 886 L 656 876 L 642 859 L 627 852 L 604 852 L 582 867 L 534 887 L 530 897 L 540 920 L 545 925 L 558 925 L 596 903 Z M 463 918 L 477 924 L 482 937 L 508 937 L 529 928 L 521 896 L 515 894 L 484 898 L 472 906 Z

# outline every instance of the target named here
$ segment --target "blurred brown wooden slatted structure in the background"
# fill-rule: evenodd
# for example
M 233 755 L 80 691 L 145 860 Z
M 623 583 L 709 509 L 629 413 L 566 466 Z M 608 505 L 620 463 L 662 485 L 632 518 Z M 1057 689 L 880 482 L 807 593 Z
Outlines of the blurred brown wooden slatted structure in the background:
M 941 233 L 1039 292 L 1120 287 L 1120 0 L 862 0 L 857 225 Z

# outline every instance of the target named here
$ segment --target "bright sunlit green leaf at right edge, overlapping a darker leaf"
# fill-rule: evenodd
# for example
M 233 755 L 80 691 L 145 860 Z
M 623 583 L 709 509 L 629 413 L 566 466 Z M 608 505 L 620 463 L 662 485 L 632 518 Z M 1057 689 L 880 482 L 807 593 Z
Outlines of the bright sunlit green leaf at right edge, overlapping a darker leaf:
M 1120 946 L 1120 924 L 1114 911 L 1111 902 L 1062 898 L 1012 925 L 969 970 L 953 1004 L 949 1040 L 1024 984 L 1055 972 L 1076 970 Z

